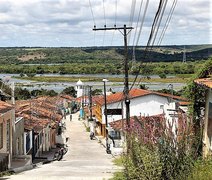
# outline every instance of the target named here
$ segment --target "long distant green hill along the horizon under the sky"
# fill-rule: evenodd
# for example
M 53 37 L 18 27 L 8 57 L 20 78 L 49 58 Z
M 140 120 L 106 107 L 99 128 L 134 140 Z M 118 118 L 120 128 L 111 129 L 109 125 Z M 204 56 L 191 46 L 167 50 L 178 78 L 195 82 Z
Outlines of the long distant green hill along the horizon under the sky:
M 148 53 L 145 47 L 137 47 L 136 61 L 172 62 L 182 61 L 184 46 L 153 47 Z M 195 61 L 212 57 L 212 45 L 186 45 L 186 60 Z M 129 47 L 129 59 L 132 59 L 132 48 Z M 52 64 L 52 63 L 117 63 L 124 59 L 123 47 L 14 47 L 0 48 L 1 64 Z

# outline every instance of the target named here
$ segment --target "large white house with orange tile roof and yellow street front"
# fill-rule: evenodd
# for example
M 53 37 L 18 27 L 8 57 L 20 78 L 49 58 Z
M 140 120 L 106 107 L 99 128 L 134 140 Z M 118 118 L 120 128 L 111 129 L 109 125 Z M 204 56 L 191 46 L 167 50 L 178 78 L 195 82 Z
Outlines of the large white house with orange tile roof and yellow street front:
M 125 103 L 123 92 L 106 97 L 107 109 L 120 109 L 120 115 L 108 115 L 108 123 L 125 118 Z M 159 93 L 144 89 L 132 89 L 129 92 L 130 116 L 153 116 L 164 112 L 164 105 L 170 102 L 185 102 L 186 99 L 171 94 Z M 96 133 L 105 136 L 105 100 L 104 97 L 96 99 L 95 115 L 97 121 Z

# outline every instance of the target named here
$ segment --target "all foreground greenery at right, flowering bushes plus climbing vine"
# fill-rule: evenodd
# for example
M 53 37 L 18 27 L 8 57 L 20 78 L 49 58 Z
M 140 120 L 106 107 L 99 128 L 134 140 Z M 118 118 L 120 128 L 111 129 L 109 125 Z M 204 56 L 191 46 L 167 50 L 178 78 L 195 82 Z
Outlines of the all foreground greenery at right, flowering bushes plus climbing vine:
M 212 61 L 209 61 L 195 79 L 211 74 Z M 155 122 L 154 119 L 136 123 L 126 130 L 130 149 L 121 159 L 123 172 L 116 173 L 113 179 L 212 179 L 212 158 L 201 158 L 203 117 L 199 111 L 204 111 L 205 91 L 193 81 L 186 90 L 191 114 L 181 116 L 181 128 L 178 126 L 176 132 L 172 125 L 163 123 L 165 120 Z

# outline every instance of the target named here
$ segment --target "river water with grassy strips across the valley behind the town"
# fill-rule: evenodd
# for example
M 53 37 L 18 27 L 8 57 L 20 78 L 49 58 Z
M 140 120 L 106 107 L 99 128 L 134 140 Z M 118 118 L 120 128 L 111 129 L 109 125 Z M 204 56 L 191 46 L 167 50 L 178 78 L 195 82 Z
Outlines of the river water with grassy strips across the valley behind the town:
M 26 88 L 28 90 L 34 90 L 34 89 L 47 89 L 47 90 L 54 90 L 58 93 L 60 93 L 63 89 L 69 87 L 69 86 L 75 86 L 77 82 L 53 82 L 53 83 L 47 83 L 47 82 L 35 82 L 30 80 L 22 80 L 22 79 L 16 79 L 14 76 L 19 76 L 19 74 L 0 74 L 0 78 L 3 81 L 6 81 L 8 83 L 15 82 L 17 86 L 20 86 L 22 88 Z M 124 77 L 124 75 L 109 75 L 109 74 L 66 74 L 66 75 L 60 75 L 60 74 L 42 74 L 42 75 L 36 75 L 36 76 L 64 76 L 64 77 L 101 77 L 103 78 L 110 78 L 110 77 Z M 135 77 L 133 75 L 130 75 L 129 77 Z M 140 78 L 141 76 L 139 76 Z M 151 78 L 159 78 L 157 75 L 150 76 Z M 174 77 L 167 76 L 167 77 Z M 102 89 L 103 90 L 103 82 L 83 82 L 85 85 L 92 86 L 92 89 Z M 152 82 L 152 83 L 142 83 L 145 84 L 149 90 L 160 90 L 160 89 L 168 89 L 168 86 L 170 83 L 158 83 L 158 82 Z M 174 90 L 180 90 L 183 86 L 185 86 L 184 83 L 171 83 L 173 85 Z M 131 87 L 131 83 L 129 83 L 129 86 Z M 139 87 L 138 84 L 134 85 L 134 88 Z M 114 92 L 123 91 L 124 83 L 123 82 L 107 82 L 107 90 L 112 89 Z

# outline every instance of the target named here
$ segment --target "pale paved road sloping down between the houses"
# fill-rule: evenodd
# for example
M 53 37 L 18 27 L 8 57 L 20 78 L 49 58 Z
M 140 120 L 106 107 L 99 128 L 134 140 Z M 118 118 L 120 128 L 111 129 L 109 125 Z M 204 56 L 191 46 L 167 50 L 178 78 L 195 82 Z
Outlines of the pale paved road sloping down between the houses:
M 70 121 L 67 117 L 65 136 L 69 137 L 69 150 L 61 161 L 12 175 L 8 179 L 15 180 L 100 180 L 109 179 L 118 167 L 112 163 L 113 157 L 106 154 L 105 148 L 97 140 L 90 140 L 82 121 L 78 120 L 78 113 Z

